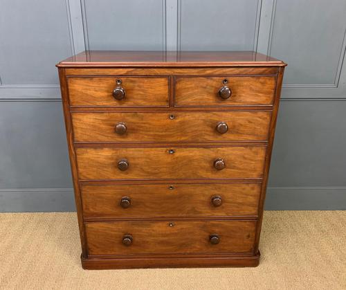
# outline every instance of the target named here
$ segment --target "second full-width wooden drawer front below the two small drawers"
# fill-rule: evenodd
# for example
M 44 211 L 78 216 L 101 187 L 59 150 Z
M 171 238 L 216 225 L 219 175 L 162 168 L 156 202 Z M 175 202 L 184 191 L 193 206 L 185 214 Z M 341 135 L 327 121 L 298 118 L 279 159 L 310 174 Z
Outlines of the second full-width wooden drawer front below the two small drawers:
M 80 179 L 260 179 L 266 147 L 76 148 L 76 153 Z M 223 162 L 226 167 L 217 170 Z

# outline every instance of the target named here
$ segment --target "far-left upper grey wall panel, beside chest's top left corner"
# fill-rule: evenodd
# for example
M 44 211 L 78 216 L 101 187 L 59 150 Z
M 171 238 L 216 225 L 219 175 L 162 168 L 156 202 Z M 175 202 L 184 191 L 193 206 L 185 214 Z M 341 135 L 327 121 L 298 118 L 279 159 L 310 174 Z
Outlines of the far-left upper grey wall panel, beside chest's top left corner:
M 65 1 L 1 0 L 2 85 L 57 85 L 54 64 L 73 53 Z

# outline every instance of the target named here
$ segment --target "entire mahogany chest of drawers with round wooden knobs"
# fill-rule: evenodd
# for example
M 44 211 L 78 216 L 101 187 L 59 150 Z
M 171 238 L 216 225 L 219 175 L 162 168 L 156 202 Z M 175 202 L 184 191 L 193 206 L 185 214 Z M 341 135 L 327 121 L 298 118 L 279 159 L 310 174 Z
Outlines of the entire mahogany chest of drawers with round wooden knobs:
M 253 52 L 57 64 L 84 269 L 257 266 L 284 66 Z

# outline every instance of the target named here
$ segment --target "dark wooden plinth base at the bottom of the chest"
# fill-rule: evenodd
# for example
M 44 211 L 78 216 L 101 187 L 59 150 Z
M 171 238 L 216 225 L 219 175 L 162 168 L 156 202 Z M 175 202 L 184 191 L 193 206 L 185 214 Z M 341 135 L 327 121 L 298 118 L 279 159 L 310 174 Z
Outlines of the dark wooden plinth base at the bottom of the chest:
M 160 255 L 148 257 L 84 258 L 83 269 L 138 269 L 138 268 L 197 268 L 197 267 L 255 267 L 260 263 L 260 252 L 244 255 Z

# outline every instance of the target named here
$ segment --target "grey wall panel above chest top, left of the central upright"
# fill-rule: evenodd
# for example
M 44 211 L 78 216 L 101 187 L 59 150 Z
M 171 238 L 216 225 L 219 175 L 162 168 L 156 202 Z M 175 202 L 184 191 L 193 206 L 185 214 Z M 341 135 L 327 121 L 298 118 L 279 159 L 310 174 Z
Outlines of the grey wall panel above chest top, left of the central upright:
M 86 48 L 165 49 L 165 1 L 82 0 Z

